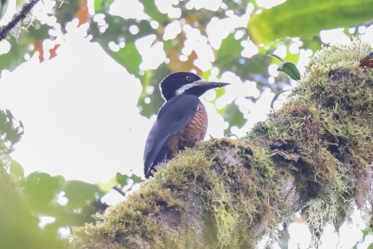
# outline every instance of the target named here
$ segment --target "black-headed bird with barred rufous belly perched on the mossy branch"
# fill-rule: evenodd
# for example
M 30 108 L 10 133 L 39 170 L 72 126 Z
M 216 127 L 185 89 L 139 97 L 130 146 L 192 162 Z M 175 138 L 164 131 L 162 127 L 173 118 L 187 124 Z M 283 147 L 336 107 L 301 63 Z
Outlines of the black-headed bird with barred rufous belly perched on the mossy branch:
M 230 85 L 208 82 L 192 72 L 167 75 L 159 83 L 166 102 L 159 109 L 144 149 L 144 175 L 149 178 L 154 166 L 166 164 L 185 147 L 194 147 L 207 132 L 207 112 L 199 97 L 206 91 Z

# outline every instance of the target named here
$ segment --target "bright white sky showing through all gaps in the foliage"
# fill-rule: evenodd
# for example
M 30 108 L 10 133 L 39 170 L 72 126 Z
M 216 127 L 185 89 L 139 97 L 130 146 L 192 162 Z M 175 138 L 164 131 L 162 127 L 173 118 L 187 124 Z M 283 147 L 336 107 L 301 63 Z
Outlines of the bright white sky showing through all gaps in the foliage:
M 172 41 L 182 30 L 186 34 L 185 47 L 178 59 L 185 62 L 188 56 L 195 53 L 196 59 L 193 63 L 198 71 L 194 69 L 193 72 L 201 74 L 209 71 L 208 77 L 206 74 L 201 75 L 205 80 L 232 83 L 225 87 L 223 93 L 209 91 L 201 98 L 209 114 L 206 139 L 209 139 L 210 135 L 223 137 L 227 133 L 234 133 L 238 137 L 245 136 L 255 122 L 266 119 L 276 93 L 274 90 L 291 89 L 296 85 L 295 81 L 283 75 L 284 78 L 278 77 L 278 64 L 269 65 L 266 69 L 269 77 L 261 79 L 272 85 L 272 89 L 258 89 L 257 81 L 242 82 L 234 70 L 222 71 L 213 66 L 216 57 L 212 48 L 219 49 L 222 40 L 230 34 L 233 34 L 235 40 L 244 36 L 250 14 L 254 10 L 253 4 L 247 4 L 242 15 L 237 16 L 233 11 L 227 10 L 224 18 L 212 18 L 206 26 L 207 34 L 201 34 L 196 29 L 197 22 L 193 27 L 184 25 L 177 19 L 181 16 L 181 9 L 172 4 L 177 4 L 178 0 L 155 2 L 160 12 L 167 13 L 170 18 L 176 18 L 165 28 L 163 40 Z M 284 1 L 258 0 L 257 5 L 270 8 L 282 2 Z M 87 34 L 88 24 L 79 26 L 79 20 L 73 19 L 66 26 L 67 32 L 61 35 L 61 26 L 56 24 L 56 18 L 48 15 L 55 4 L 50 0 L 40 1 L 35 6 L 34 13 L 41 23 L 47 22 L 53 26 L 50 35 L 57 37 L 43 42 L 44 58 L 48 58 L 50 49 L 57 43 L 60 44 L 56 49 L 58 56 L 40 63 L 39 52 L 33 56 L 25 55 L 26 62 L 14 71 L 1 72 L 0 108 L 11 110 L 15 119 L 21 120 L 25 127 L 22 140 L 15 145 L 15 151 L 11 154 L 12 158 L 23 166 L 25 175 L 42 171 L 52 176 L 62 175 L 66 180 L 76 179 L 88 183 L 106 183 L 116 172 L 129 175 L 133 172 L 143 176 L 144 144 L 156 116 L 153 114 L 147 117 L 142 112 L 144 106 L 151 106 L 156 101 L 156 105 L 160 105 L 159 100 L 153 99 L 155 95 L 159 99 L 159 91 L 153 85 L 143 89 L 137 76 L 129 73 L 98 43 L 92 41 L 93 36 Z M 11 0 L 10 6 L 0 25 L 12 18 L 15 1 Z M 93 0 L 88 1 L 88 8 L 90 15 L 94 15 Z M 186 8 L 217 11 L 219 8 L 225 9 L 225 3 L 219 0 L 191 0 L 186 4 Z M 137 0 L 116 0 L 110 6 L 112 15 L 125 19 L 148 19 L 143 10 L 142 4 Z M 104 16 L 95 15 L 93 18 L 101 26 L 99 32 L 104 33 Z M 159 24 L 152 21 L 150 25 L 157 28 Z M 139 32 L 136 26 L 129 27 L 129 30 L 132 34 Z M 372 42 L 373 26 L 352 28 L 348 31 L 343 28 L 321 31 L 320 38 L 325 44 L 348 43 L 350 34 Z M 162 63 L 173 63 L 172 58 L 168 58 L 163 50 L 163 42 L 155 42 L 156 38 L 155 34 L 148 35 L 134 42 L 142 56 L 139 75 L 148 69 L 158 68 Z M 109 42 L 108 48 L 117 52 L 126 44 L 125 40 Z M 310 49 L 300 49 L 302 44 L 299 38 L 293 38 L 288 44 L 278 46 L 274 52 L 280 57 L 299 55 L 297 68 L 301 74 L 308 58 L 313 54 Z M 241 41 L 241 45 L 241 56 L 247 58 L 257 55 L 259 49 L 269 49 L 269 46 L 255 46 L 250 39 Z M 9 49 L 8 41 L 0 43 L 0 53 L 7 53 Z M 34 47 L 29 50 L 34 50 Z M 245 65 L 245 60 L 239 63 Z M 166 75 L 162 75 L 162 78 L 164 77 Z M 286 101 L 287 94 L 280 95 L 275 102 L 275 108 L 279 108 L 281 103 Z M 142 95 L 145 105 L 138 105 L 139 96 Z M 240 127 L 230 126 L 229 113 L 219 111 L 231 103 L 238 106 L 244 118 Z M 123 196 L 113 191 L 103 200 L 115 204 L 123 199 Z M 364 229 L 364 222 L 358 211 L 355 212 L 353 221 L 353 225 L 346 224 L 342 227 L 339 239 L 333 229 L 327 226 L 319 248 L 354 246 L 356 241 L 363 237 L 361 230 Z M 290 224 L 289 231 L 289 248 L 308 248 L 311 233 L 304 221 Z M 365 242 L 357 248 L 367 248 L 372 242 L 372 236 L 366 236 Z M 278 245 L 274 247 L 279 248 Z

